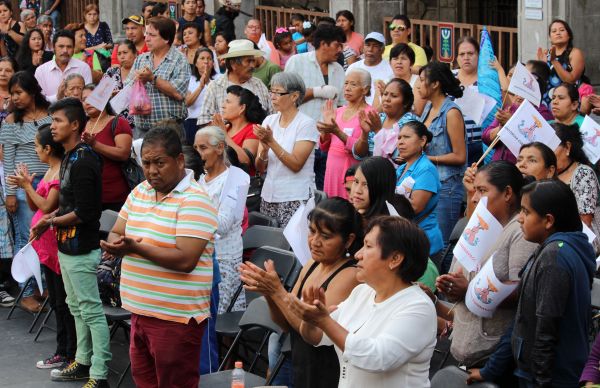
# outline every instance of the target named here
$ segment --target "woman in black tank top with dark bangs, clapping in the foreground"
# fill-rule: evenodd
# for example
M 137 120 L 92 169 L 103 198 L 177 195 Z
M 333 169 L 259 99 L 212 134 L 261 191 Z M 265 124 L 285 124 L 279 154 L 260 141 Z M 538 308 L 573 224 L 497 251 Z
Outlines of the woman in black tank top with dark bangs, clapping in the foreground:
M 300 297 L 308 287 L 320 287 L 330 306 L 348 297 L 358 281 L 354 254 L 362 242 L 362 221 L 352 205 L 342 198 L 328 198 L 309 214 L 309 260 L 294 285 L 292 295 Z M 241 279 L 250 291 L 260 292 L 269 303 L 273 320 L 292 341 L 294 387 L 329 388 L 337 384 L 339 365 L 333 347 L 315 348 L 298 334 L 299 317 L 289 304 L 289 294 L 281 284 L 273 263 L 265 270 L 251 263 L 241 266 Z

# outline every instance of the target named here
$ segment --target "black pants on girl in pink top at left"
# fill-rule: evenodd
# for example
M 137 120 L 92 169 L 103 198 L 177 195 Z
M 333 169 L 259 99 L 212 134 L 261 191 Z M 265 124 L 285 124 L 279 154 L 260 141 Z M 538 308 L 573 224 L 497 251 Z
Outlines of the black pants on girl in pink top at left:
M 67 294 L 62 276 L 43 264 L 42 268 L 46 275 L 50 306 L 54 309 L 54 316 L 56 317 L 56 354 L 71 360 L 75 359 L 75 351 L 77 350 L 75 321 L 65 301 Z

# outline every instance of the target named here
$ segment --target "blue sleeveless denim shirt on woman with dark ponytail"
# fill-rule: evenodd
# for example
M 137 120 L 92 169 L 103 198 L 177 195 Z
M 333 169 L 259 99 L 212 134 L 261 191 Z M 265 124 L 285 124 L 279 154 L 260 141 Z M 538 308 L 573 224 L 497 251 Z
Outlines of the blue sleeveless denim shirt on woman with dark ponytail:
M 431 111 L 432 104 L 428 102 L 425 106 L 425 110 L 423 111 L 423 115 L 421 115 L 421 121 L 425 122 L 429 112 Z M 451 97 L 446 97 L 438 115 L 433 119 L 431 124 L 429 125 L 429 131 L 433 134 L 433 139 L 429 146 L 427 146 L 427 155 L 446 155 L 452 152 L 452 144 L 450 143 L 450 136 L 448 136 L 448 128 L 447 128 L 447 119 L 448 112 L 451 109 L 458 109 L 458 111 L 462 114 L 458 105 L 452 101 Z M 464 125 L 464 124 L 463 124 Z M 464 126 L 463 126 L 464 132 Z M 465 134 L 465 144 L 466 144 L 466 134 Z M 462 166 L 448 166 L 448 165 L 438 165 L 437 170 L 440 175 L 440 181 L 444 182 L 448 179 L 452 178 L 455 175 L 462 175 L 467 167 L 466 160 L 465 164 Z

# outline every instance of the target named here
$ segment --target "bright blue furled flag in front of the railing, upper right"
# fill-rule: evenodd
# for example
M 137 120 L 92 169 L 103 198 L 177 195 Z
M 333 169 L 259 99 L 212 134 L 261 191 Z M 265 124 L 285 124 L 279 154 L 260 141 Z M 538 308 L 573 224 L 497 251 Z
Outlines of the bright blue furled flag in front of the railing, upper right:
M 490 63 L 494 60 L 494 48 L 492 47 L 492 40 L 487 29 L 483 27 L 481 31 L 481 42 L 479 44 L 479 63 L 477 65 L 477 88 L 479 93 L 485 94 L 494 100 L 496 100 L 496 108 L 488 114 L 488 116 L 481 123 L 481 128 L 487 128 L 492 121 L 498 109 L 502 108 L 502 88 L 500 87 L 500 78 L 496 69 L 490 66 Z M 487 148 L 484 145 L 484 151 Z M 486 162 L 491 160 L 492 153 L 486 158 Z

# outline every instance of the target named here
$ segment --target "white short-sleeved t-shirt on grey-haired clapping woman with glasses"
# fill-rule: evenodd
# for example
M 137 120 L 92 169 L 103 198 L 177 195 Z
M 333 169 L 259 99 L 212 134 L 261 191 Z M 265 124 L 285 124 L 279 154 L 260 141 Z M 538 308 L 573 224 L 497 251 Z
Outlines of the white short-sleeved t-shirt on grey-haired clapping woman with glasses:
M 280 118 L 281 113 L 267 116 L 262 125 L 271 127 L 273 138 L 286 152 L 291 153 L 296 142 L 303 140 L 315 143 L 316 148 L 319 141 L 319 131 L 317 131 L 315 120 L 302 112 L 298 112 L 288 127 L 282 128 L 279 126 Z M 269 150 L 268 158 L 267 177 L 263 183 L 261 193 L 262 199 L 272 203 L 308 199 L 310 189 L 315 189 L 315 153 L 310 153 L 306 163 L 298 172 L 293 172 L 287 168 L 273 150 Z

